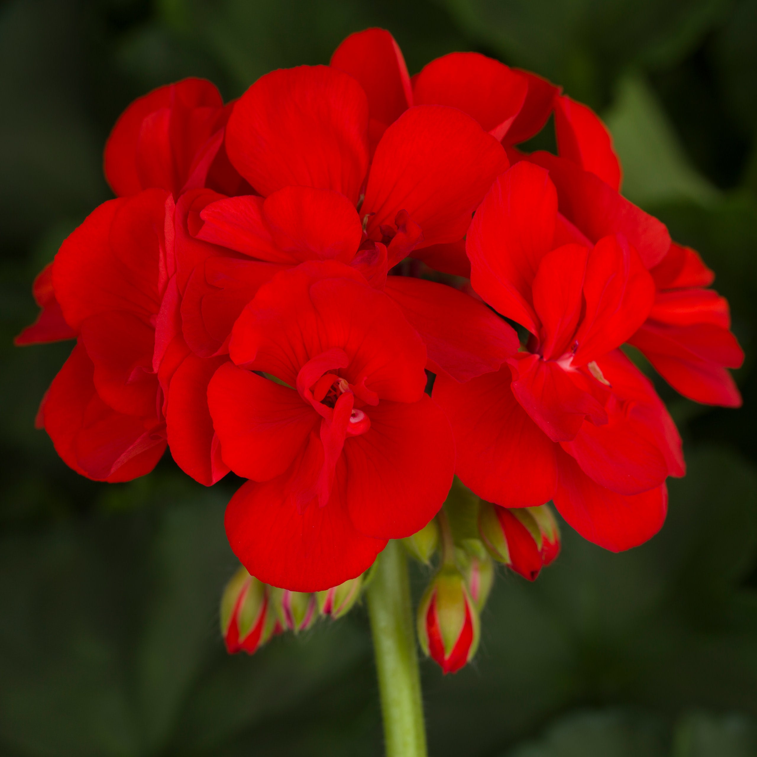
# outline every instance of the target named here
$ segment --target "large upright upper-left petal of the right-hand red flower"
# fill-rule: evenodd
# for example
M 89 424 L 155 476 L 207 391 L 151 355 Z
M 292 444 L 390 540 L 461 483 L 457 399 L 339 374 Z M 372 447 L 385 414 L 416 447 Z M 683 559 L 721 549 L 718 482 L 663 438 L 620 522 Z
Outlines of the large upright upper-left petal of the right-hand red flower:
M 494 310 L 534 334 L 531 285 L 552 249 L 557 194 L 547 171 L 522 161 L 500 176 L 466 238 L 471 285 Z

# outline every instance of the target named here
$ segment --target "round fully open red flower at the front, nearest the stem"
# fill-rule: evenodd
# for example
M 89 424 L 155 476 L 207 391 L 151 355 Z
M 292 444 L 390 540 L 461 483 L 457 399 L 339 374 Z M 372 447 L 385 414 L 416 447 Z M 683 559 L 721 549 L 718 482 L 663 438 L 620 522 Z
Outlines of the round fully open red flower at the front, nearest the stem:
M 280 273 L 236 322 L 231 357 L 208 400 L 224 461 L 251 479 L 226 532 L 252 575 L 328 589 L 441 507 L 454 446 L 424 393 L 425 347 L 357 271 L 328 261 Z

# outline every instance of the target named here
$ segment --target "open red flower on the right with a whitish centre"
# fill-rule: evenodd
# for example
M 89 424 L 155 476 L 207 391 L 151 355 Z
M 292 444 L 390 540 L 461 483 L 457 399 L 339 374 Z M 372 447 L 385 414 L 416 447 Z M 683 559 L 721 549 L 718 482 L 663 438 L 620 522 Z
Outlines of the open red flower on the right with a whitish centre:
M 665 478 L 684 472 L 662 401 L 617 349 L 650 313 L 654 282 L 620 235 L 561 241 L 550 175 L 516 164 L 481 204 L 467 249 L 472 286 L 531 332 L 528 349 L 466 384 L 438 376 L 434 397 L 476 494 L 507 507 L 553 499 L 584 537 L 626 549 L 660 528 Z

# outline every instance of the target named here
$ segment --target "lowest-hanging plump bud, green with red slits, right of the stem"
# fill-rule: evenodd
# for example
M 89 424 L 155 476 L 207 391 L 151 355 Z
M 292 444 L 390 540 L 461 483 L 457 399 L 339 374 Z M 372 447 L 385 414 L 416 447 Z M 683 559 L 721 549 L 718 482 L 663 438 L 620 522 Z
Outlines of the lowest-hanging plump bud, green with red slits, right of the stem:
M 445 674 L 470 662 L 480 636 L 478 610 L 468 593 L 465 578 L 443 565 L 425 590 L 418 608 L 418 637 L 422 650 Z

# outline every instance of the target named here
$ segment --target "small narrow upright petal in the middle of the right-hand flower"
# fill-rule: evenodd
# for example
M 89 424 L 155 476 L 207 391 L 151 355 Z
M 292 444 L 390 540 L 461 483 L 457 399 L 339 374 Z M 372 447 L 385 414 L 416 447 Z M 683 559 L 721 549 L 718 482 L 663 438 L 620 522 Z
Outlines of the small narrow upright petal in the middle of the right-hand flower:
M 548 252 L 534 277 L 533 298 L 543 328 L 540 354 L 560 357 L 571 344 L 583 304 L 588 250 L 564 245 Z

